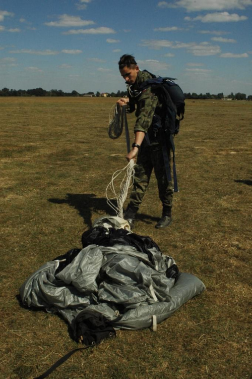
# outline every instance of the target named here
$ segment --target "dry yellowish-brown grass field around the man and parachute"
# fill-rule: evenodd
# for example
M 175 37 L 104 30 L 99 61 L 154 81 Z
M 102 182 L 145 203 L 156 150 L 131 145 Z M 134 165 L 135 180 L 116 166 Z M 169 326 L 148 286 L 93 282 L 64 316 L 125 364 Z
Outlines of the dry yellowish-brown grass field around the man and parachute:
M 78 346 L 57 315 L 22 307 L 19 287 L 81 247 L 82 233 L 110 213 L 106 186 L 127 164 L 124 135 L 107 135 L 114 101 L 0 97 L 1 379 L 31 379 Z M 161 204 L 153 176 L 134 230 L 207 290 L 156 333 L 118 331 L 51 379 L 251 378 L 251 120 L 252 102 L 187 100 L 175 138 L 173 223 L 154 228 Z

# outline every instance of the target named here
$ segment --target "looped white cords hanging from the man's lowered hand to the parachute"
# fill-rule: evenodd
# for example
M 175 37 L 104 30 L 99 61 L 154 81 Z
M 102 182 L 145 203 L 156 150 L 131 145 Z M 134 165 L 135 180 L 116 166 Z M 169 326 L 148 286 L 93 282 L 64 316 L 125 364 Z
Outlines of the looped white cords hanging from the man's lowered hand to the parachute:
M 123 219 L 123 204 L 127 198 L 128 190 L 132 186 L 133 181 L 134 181 L 134 175 L 135 175 L 134 166 L 135 166 L 134 159 L 131 159 L 127 166 L 125 166 L 121 170 L 115 171 L 115 173 L 112 175 L 111 182 L 108 184 L 106 188 L 106 198 L 107 198 L 108 205 L 111 206 L 111 208 L 115 211 L 116 215 L 121 217 L 122 219 Z M 120 184 L 120 193 L 119 195 L 117 195 L 114 188 L 114 181 L 122 173 L 124 173 L 124 177 Z M 114 197 L 110 199 L 108 198 L 108 194 L 107 194 L 109 189 L 114 195 Z M 116 200 L 117 206 L 115 206 L 111 200 Z

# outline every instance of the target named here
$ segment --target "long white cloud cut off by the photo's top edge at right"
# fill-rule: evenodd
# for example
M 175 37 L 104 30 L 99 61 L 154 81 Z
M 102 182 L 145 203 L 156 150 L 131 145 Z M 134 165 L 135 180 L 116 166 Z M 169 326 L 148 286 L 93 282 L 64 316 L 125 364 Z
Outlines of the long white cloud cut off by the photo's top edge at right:
M 187 12 L 245 9 L 249 5 L 252 5 L 252 0 L 178 0 L 174 3 L 158 3 L 159 8 L 185 8 Z

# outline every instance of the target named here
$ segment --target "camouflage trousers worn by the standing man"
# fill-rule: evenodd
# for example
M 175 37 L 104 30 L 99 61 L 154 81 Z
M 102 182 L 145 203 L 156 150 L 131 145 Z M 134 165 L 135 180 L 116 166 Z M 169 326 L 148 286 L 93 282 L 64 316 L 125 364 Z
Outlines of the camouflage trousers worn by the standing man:
M 161 144 L 141 146 L 138 154 L 137 165 L 135 166 L 135 180 L 130 195 L 128 208 L 137 212 L 143 201 L 145 192 L 148 188 L 151 173 L 154 173 L 157 179 L 159 198 L 163 208 L 171 208 L 173 186 L 168 182 Z

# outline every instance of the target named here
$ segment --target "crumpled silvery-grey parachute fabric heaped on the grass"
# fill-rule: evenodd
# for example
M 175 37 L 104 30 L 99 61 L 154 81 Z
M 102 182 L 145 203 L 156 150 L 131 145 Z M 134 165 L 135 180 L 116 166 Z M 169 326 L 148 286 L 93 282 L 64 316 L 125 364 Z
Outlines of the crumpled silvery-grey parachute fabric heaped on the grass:
M 103 228 L 105 237 L 120 228 L 128 235 L 127 224 L 118 217 L 105 217 L 93 228 Z M 60 259 L 49 261 L 20 288 L 22 302 L 60 314 L 73 330 L 76 317 L 85 311 L 98 312 L 115 329 L 155 328 L 205 290 L 194 275 L 167 277 L 167 270 L 176 263 L 155 246 L 146 254 L 127 244 L 93 243 L 79 249 L 60 270 Z

